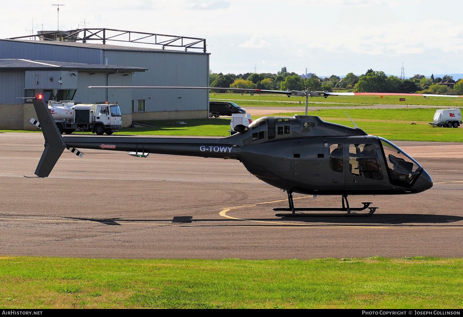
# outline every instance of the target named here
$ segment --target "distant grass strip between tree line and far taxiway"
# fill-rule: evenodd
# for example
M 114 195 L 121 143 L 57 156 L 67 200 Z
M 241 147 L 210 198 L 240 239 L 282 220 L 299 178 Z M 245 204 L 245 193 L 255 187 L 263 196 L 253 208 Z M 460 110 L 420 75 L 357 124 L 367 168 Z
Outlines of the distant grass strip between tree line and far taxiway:
M 421 106 L 451 106 L 451 107 L 463 107 L 463 98 L 451 98 L 451 97 L 426 97 L 423 96 L 401 96 L 405 97 L 405 101 L 399 101 L 400 96 L 329 96 L 323 97 L 311 97 L 309 102 L 313 103 L 327 103 L 332 106 L 350 106 L 350 105 L 421 105 Z M 255 105 L 266 105 L 266 106 L 288 106 L 294 107 L 299 105 L 305 105 L 305 97 L 287 97 L 286 95 L 241 95 L 241 94 L 210 94 L 211 100 L 228 100 L 236 102 L 239 106 L 255 106 Z M 297 103 L 297 104 L 296 104 Z

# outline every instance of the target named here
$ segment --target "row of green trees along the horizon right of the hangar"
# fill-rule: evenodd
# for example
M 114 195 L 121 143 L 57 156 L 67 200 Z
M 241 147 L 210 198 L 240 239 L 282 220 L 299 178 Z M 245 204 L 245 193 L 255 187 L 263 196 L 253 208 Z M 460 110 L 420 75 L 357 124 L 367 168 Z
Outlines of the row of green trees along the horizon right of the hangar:
M 453 89 L 448 85 L 439 82 L 454 83 Z M 353 91 L 353 92 L 384 92 L 384 93 L 421 93 L 421 94 L 463 94 L 463 78 L 455 82 L 452 76 L 443 78 L 431 75 L 426 78 L 424 75 L 415 75 L 409 79 L 402 80 L 397 76 L 387 76 L 383 71 L 369 69 L 361 76 L 348 73 L 344 78 L 332 75 L 320 78 L 312 74 L 309 78 L 302 78 L 294 72 L 288 72 L 286 67 L 276 74 L 271 73 L 245 73 L 245 74 L 222 74 L 212 73 L 209 75 L 210 87 L 230 87 L 244 89 L 267 89 L 267 90 L 299 90 L 309 89 L 310 91 Z

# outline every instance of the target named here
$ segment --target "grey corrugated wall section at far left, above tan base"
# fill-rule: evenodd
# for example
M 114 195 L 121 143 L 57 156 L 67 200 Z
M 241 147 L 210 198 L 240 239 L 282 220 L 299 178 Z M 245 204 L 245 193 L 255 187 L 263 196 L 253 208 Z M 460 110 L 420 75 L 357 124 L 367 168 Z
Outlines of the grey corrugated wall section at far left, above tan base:
M 0 104 L 24 103 L 24 71 L 0 71 Z

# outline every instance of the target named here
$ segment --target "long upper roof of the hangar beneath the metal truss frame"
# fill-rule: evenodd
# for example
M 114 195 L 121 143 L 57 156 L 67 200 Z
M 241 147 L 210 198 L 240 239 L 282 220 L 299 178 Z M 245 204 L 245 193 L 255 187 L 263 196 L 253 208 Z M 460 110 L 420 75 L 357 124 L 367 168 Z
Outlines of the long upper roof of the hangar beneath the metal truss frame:
M 43 45 L 85 47 L 85 48 L 98 49 L 98 50 L 103 50 L 103 51 L 133 51 L 133 52 L 206 54 L 206 55 L 211 54 L 211 53 L 194 52 L 194 51 L 175 51 L 175 50 L 154 49 L 154 48 L 148 48 L 148 47 L 122 46 L 122 45 L 98 44 L 98 43 L 80 43 L 80 42 L 70 42 L 70 41 L 34 41 L 34 40 L 19 40 L 19 39 L 8 39 L 8 38 L 2 38 L 0 40 L 1 41 L 11 41 L 11 42 L 24 42 L 24 43 L 32 43 L 32 44 L 43 44 Z

